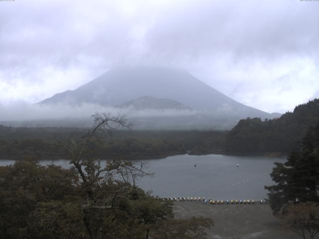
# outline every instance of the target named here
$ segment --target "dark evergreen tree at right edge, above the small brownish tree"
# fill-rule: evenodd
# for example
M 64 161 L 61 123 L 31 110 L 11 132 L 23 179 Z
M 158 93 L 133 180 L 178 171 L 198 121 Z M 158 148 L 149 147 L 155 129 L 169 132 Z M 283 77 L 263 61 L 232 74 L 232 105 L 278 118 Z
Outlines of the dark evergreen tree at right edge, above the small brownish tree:
M 288 204 L 319 202 L 319 124 L 308 130 L 300 152 L 275 165 L 270 175 L 277 185 L 265 186 L 274 214 L 284 214 Z

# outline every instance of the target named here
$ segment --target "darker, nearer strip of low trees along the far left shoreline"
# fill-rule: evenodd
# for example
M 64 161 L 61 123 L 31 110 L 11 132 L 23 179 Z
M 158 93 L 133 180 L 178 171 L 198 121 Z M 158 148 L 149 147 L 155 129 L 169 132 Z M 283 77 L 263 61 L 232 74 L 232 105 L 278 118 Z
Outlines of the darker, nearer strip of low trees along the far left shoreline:
M 54 140 L 21 139 L 0 140 L 0 158 L 18 159 L 28 158 L 65 158 L 65 151 L 52 145 Z M 89 144 L 90 151 L 86 156 L 99 155 L 101 158 L 121 157 L 130 159 L 147 159 L 165 157 L 174 154 L 183 154 L 185 150 L 182 143 L 163 140 L 159 138 L 126 138 L 123 140 L 92 140 Z

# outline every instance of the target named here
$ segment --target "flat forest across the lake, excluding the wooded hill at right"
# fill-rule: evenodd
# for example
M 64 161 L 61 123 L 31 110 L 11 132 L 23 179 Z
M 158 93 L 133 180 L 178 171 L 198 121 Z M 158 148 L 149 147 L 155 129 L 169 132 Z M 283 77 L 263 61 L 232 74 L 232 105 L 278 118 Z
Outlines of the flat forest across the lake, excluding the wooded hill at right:
M 56 148 L 56 140 L 78 138 L 84 128 L 63 127 L 6 127 L 0 125 L 0 159 L 19 159 L 24 156 L 65 158 L 65 151 Z M 175 154 L 216 153 L 222 151 L 225 132 L 221 131 L 135 131 L 122 130 L 97 133 L 90 142 L 89 155 L 103 158 L 130 159 L 160 158 Z

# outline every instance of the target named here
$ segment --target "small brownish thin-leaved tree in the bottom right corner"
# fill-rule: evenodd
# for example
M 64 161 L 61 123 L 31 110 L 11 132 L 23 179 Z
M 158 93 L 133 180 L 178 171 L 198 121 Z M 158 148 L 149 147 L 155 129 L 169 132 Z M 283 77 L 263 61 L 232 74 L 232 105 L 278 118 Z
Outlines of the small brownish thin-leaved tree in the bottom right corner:
M 319 233 L 319 205 L 314 203 L 289 205 L 284 220 L 303 239 L 314 239 Z

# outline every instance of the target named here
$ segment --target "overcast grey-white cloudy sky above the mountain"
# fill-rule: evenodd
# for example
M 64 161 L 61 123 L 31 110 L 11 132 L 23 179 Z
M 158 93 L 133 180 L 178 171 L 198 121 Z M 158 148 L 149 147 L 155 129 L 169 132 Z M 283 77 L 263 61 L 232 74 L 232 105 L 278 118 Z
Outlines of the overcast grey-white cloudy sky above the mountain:
M 319 97 L 319 1 L 0 1 L 0 104 L 36 103 L 116 65 L 189 71 L 267 112 Z

